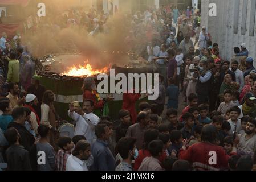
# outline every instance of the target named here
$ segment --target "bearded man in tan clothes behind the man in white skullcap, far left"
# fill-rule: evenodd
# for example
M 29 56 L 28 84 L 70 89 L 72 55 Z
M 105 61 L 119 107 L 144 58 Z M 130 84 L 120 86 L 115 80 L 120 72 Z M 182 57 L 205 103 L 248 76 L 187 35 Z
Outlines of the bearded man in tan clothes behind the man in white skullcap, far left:
M 10 82 L 8 84 L 9 95 L 6 96 L 11 102 L 13 108 L 22 107 L 25 102 L 25 97 L 19 99 L 19 86 Z

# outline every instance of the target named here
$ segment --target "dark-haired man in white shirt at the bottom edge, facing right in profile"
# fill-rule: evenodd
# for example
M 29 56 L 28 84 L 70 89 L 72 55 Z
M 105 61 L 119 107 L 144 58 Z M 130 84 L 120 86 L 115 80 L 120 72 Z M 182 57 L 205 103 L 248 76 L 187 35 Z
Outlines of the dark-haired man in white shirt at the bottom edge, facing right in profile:
M 72 154 L 68 157 L 66 171 L 88 171 L 88 164 L 84 161 L 91 156 L 91 144 L 86 140 L 76 143 Z

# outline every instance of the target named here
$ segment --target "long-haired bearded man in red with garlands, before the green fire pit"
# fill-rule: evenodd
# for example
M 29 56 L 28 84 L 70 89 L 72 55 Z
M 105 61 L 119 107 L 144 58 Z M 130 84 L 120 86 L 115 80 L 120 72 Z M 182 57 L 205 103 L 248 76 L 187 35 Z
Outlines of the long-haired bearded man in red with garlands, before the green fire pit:
M 94 77 L 87 77 L 84 79 L 83 83 L 83 100 L 92 100 L 94 102 L 94 113 L 97 116 L 108 115 L 104 112 L 104 104 L 107 104 L 107 101 L 112 101 L 113 98 L 106 97 L 104 100 L 101 100 L 99 93 L 97 93 L 97 87 Z M 106 105 L 107 106 L 107 105 Z

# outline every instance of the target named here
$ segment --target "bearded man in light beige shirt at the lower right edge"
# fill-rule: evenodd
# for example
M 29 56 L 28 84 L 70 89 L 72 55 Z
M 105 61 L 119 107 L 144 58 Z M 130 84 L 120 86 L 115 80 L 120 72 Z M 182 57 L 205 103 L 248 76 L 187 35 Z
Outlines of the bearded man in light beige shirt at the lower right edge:
M 256 151 L 256 120 L 250 118 L 246 125 L 245 134 L 239 134 L 238 150 L 253 155 Z

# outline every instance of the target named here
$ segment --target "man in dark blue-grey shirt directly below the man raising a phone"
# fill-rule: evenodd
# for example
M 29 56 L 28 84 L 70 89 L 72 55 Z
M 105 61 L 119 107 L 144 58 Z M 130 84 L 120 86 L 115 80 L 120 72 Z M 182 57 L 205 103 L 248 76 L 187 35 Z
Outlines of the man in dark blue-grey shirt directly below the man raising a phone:
M 92 156 L 94 164 L 92 171 L 115 171 L 116 160 L 108 147 L 107 140 L 111 135 L 111 130 L 105 124 L 95 126 L 96 141 L 92 143 Z

